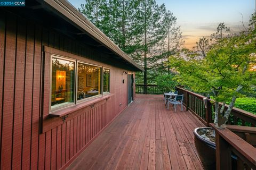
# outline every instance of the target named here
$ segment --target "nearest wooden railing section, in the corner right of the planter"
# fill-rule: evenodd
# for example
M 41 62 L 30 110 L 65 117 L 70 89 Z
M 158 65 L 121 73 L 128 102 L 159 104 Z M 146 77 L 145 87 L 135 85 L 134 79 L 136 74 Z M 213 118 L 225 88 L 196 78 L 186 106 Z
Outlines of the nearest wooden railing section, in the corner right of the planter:
M 213 123 L 210 126 L 216 132 L 216 169 L 256 169 L 254 127 L 228 125 L 218 129 Z

